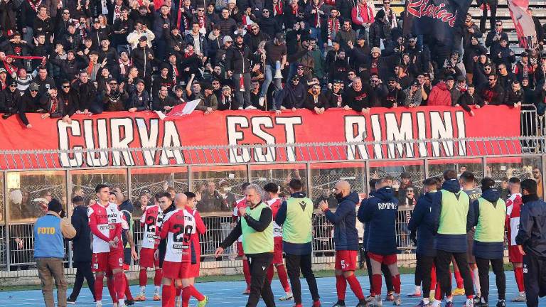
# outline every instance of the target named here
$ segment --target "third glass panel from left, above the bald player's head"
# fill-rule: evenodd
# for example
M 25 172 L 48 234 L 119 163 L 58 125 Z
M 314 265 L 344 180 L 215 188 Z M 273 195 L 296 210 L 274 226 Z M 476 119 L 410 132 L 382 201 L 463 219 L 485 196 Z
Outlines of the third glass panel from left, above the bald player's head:
M 156 193 L 171 191 L 183 193 L 188 191 L 188 168 L 132 168 L 131 200 L 134 206 L 133 217 L 140 217 L 146 205 L 154 203 Z

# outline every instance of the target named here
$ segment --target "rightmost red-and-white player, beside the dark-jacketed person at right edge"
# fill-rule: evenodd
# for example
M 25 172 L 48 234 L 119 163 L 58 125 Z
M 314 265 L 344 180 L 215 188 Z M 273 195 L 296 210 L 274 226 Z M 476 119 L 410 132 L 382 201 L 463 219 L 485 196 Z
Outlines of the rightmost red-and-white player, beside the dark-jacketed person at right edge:
M 515 243 L 515 236 L 518 235 L 520 227 L 520 211 L 523 200 L 521 199 L 520 179 L 510 178 L 508 181 L 508 190 L 510 197 L 506 200 L 506 228 L 508 230 L 508 257 L 514 266 L 515 283 L 518 284 L 518 296 L 513 298 L 513 302 L 525 302 L 525 286 L 523 285 L 523 254 Z

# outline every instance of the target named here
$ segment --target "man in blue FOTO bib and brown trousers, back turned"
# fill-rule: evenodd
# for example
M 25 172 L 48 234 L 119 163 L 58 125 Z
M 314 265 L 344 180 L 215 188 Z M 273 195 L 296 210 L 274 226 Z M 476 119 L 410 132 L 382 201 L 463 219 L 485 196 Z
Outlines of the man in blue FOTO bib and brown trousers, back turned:
M 63 266 L 65 243 L 63 238 L 72 239 L 76 230 L 65 217 L 63 206 L 58 200 L 48 203 L 48 212 L 34 224 L 34 258 L 38 277 L 42 283 L 43 301 L 46 307 L 55 307 L 53 279 L 57 285 L 57 303 L 66 307 L 66 279 Z

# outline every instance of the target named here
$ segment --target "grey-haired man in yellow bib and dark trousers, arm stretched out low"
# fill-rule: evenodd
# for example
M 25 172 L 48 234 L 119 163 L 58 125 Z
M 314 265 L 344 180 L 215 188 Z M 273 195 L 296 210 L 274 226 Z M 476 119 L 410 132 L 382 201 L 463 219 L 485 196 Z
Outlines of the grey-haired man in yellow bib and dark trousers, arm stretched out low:
M 249 207 L 239 208 L 242 218 L 215 252 L 215 257 L 219 257 L 224 249 L 242 235 L 242 247 L 250 264 L 250 295 L 247 307 L 257 306 L 260 296 L 265 306 L 275 306 L 271 284 L 266 278 L 267 269 L 273 261 L 273 212 L 262 201 L 263 197 L 264 191 L 259 185 L 247 186 L 245 199 Z

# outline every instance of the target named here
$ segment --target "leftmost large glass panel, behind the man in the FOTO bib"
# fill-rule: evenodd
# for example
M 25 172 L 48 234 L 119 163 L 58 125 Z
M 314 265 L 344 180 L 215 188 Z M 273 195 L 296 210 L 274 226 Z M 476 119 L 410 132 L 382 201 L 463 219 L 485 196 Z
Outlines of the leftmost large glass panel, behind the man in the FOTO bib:
M 9 172 L 8 210 L 10 223 L 33 223 L 48 212 L 48 203 L 55 198 L 66 205 L 66 178 L 64 171 Z

